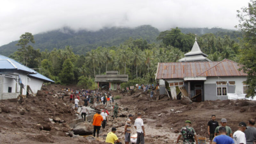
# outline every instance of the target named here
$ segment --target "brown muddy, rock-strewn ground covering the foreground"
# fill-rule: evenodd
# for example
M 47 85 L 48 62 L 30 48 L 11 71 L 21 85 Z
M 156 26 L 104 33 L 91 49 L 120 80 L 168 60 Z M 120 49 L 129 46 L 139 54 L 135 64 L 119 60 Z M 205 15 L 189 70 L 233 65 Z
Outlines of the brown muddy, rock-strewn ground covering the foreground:
M 161 97 L 156 100 L 157 94 L 151 99 L 148 93 L 137 91 L 111 92 L 120 106 L 121 117 L 114 119 L 112 106 L 92 106 L 95 109 L 107 108 L 110 112 L 107 126 L 100 131 L 100 138 L 89 136 L 70 137 L 67 132 L 69 123 L 80 118 L 75 115 L 74 104 L 69 103 L 69 96 L 61 98 L 63 91 L 60 85 L 49 85 L 42 88 L 42 95 L 27 97 L 23 103 L 16 99 L 1 100 L 0 108 L 0 140 L 1 143 L 105 143 L 105 138 L 113 125 L 117 126 L 116 135 L 124 142 L 124 123 L 129 114 L 143 114 L 147 144 L 176 143 L 178 131 L 186 120 L 192 122 L 192 127 L 199 137 L 207 137 L 207 122 L 215 114 L 220 123 L 221 118 L 228 120 L 232 131 L 237 130 L 240 121 L 247 122 L 249 118 L 256 118 L 256 101 L 249 100 L 216 100 L 181 104 L 181 100 L 168 100 Z M 81 98 L 80 105 L 83 105 Z M 49 119 L 50 118 L 50 119 Z M 134 117 L 135 119 L 136 117 Z M 51 121 L 51 119 L 53 119 Z M 119 124 L 119 125 L 118 125 Z M 134 120 L 133 120 L 134 124 Z M 132 126 L 133 127 L 133 126 Z M 132 129 L 132 134 L 135 134 Z M 181 142 L 181 141 L 180 141 Z

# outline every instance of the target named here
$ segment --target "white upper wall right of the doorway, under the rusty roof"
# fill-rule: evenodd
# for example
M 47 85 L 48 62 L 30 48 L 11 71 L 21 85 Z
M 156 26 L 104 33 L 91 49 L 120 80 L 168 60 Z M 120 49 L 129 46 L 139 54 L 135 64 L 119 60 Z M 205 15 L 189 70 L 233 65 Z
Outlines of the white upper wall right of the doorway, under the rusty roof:
M 243 81 L 246 81 L 246 76 L 223 76 L 223 77 L 207 77 L 206 81 L 204 81 L 204 84 L 216 84 L 218 81 L 226 81 L 227 83 L 229 81 L 235 81 L 236 89 L 235 93 L 243 93 Z

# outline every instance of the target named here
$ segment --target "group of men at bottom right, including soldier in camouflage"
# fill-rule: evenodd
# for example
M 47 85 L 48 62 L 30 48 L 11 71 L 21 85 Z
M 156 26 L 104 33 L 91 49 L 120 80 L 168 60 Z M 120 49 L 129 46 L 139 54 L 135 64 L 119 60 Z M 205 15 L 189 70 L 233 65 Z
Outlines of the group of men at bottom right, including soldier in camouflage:
M 210 144 L 256 144 L 255 119 L 249 119 L 248 126 L 245 122 L 240 122 L 237 131 L 234 133 L 227 126 L 226 118 L 222 118 L 220 124 L 219 126 L 216 116 L 212 115 L 207 126 Z M 183 144 L 198 144 L 196 132 L 191 127 L 191 121 L 189 120 L 185 121 L 185 127 L 181 128 L 177 144 L 181 136 L 183 136 Z

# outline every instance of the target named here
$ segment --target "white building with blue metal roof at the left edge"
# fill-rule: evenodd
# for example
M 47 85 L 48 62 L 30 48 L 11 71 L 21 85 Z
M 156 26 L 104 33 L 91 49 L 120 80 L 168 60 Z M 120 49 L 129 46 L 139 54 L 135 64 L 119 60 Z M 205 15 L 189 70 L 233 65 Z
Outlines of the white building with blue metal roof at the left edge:
M 35 95 L 44 82 L 54 81 L 11 58 L 0 55 L 0 100 L 17 98 L 20 93 Z

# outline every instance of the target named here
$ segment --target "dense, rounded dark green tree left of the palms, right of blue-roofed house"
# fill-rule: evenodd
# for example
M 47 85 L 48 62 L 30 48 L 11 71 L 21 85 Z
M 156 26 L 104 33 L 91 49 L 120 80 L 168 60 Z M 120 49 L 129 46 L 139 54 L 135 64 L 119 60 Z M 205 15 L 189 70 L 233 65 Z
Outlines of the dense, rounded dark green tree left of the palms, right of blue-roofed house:
M 70 59 L 64 61 L 60 72 L 60 80 L 62 84 L 72 84 L 75 80 L 74 64 Z

